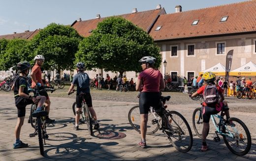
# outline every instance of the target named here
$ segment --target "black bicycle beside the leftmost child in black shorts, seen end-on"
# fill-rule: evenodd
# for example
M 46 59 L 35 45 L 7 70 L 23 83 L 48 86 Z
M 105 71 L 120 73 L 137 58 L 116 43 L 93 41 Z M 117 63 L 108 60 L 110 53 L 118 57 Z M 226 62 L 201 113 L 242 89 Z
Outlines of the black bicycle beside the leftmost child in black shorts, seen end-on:
M 40 96 L 39 94 L 40 91 L 48 91 L 48 90 L 29 89 L 29 92 L 34 92 L 34 96 Z M 53 92 L 54 89 L 50 91 Z M 30 123 L 31 123 L 31 126 L 34 128 L 34 133 L 30 134 L 30 137 L 34 137 L 35 135 L 38 135 L 40 154 L 44 156 L 44 145 L 46 144 L 45 139 L 48 138 L 48 134 L 46 133 L 45 116 L 48 115 L 48 112 L 44 110 L 44 106 L 42 107 L 42 111 L 37 115 L 33 114 L 35 110 L 36 110 L 36 105 L 32 104 L 31 111 L 30 111 Z

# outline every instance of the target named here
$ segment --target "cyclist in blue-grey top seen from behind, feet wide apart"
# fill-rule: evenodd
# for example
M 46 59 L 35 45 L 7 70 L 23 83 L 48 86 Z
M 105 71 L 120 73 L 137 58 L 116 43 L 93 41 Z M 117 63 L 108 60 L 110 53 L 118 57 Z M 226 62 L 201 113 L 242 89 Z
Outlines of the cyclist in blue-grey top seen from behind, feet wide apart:
M 84 63 L 79 62 L 76 64 L 76 67 L 77 67 L 77 74 L 74 76 L 71 86 L 68 90 L 68 94 L 73 93 L 75 84 L 77 85 L 76 115 L 75 115 L 74 130 L 79 130 L 78 123 L 79 123 L 79 119 L 80 119 L 80 114 L 82 113 L 82 101 L 83 101 L 83 96 L 80 94 L 81 92 L 85 93 L 84 94 L 85 102 L 94 117 L 94 121 L 95 121 L 94 129 L 98 129 L 99 124 L 97 121 L 96 112 L 93 108 L 92 96 L 90 94 L 90 78 L 89 78 L 88 74 L 84 73 L 84 68 L 85 68 Z

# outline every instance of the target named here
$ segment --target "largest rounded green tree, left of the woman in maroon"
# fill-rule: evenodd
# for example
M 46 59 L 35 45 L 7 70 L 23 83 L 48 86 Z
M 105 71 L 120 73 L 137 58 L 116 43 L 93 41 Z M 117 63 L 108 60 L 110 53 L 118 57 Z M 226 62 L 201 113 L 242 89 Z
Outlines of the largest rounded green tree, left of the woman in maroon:
M 121 75 L 125 71 L 141 71 L 138 60 L 143 56 L 157 58 L 155 67 L 161 62 L 160 49 L 153 38 L 121 17 L 110 17 L 99 23 L 92 35 L 80 42 L 75 56 L 89 70 L 104 68 Z

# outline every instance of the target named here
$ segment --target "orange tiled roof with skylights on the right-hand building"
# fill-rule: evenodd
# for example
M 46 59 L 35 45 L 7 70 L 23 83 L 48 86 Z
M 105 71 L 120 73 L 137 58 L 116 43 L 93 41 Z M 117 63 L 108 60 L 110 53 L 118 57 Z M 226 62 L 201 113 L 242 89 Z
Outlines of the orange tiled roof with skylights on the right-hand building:
M 244 32 L 256 32 L 256 0 L 160 15 L 149 34 L 158 41 Z

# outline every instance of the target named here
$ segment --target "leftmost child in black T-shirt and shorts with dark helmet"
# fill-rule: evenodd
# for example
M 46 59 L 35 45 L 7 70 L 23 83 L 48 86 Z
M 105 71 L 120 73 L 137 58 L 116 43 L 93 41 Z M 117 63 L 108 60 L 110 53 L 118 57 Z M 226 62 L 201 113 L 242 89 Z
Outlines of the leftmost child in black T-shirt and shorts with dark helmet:
M 12 86 L 14 91 L 15 106 L 18 109 L 18 119 L 15 127 L 15 143 L 13 144 L 13 149 L 23 148 L 29 146 L 27 143 L 23 143 L 20 140 L 21 127 L 24 123 L 26 106 L 30 104 L 37 104 L 37 108 L 41 108 L 46 100 L 45 96 L 37 96 L 36 98 L 29 95 L 28 84 L 26 77 L 29 74 L 31 65 L 27 61 L 19 62 L 17 64 L 17 70 L 19 71 L 19 76 L 15 79 Z

